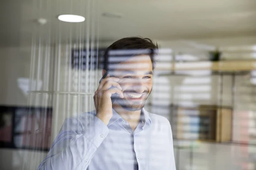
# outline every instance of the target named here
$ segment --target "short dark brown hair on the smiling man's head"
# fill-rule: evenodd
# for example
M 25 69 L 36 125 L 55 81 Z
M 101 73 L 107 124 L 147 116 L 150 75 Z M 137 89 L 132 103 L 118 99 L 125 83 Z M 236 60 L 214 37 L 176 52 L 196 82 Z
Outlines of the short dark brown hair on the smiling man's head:
M 104 69 L 108 71 L 108 57 L 109 57 L 109 52 L 111 50 L 146 50 L 148 51 L 147 53 L 136 53 L 132 56 L 136 55 L 141 55 L 141 54 L 149 54 L 152 65 L 153 65 L 153 70 L 155 68 L 155 58 L 154 55 L 157 53 L 158 50 L 158 45 L 157 43 L 155 44 L 152 40 L 149 38 L 143 38 L 143 37 L 126 37 L 122 38 L 120 40 L 117 40 L 113 44 L 111 44 L 105 51 L 104 54 Z M 116 56 L 120 57 L 120 56 Z

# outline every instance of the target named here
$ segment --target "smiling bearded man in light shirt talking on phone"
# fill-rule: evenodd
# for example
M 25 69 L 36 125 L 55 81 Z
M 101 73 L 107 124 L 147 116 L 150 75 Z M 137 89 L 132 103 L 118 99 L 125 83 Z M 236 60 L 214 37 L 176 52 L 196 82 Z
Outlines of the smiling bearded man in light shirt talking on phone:
M 104 79 L 94 95 L 96 111 L 65 120 L 38 170 L 176 169 L 169 121 L 143 108 L 156 50 L 142 37 L 123 38 L 107 48 Z

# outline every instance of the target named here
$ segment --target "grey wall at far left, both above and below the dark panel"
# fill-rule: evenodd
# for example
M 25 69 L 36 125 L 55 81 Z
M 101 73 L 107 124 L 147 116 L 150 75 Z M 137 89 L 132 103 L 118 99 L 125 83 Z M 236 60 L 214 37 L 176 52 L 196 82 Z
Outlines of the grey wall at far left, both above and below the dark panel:
M 28 94 L 20 88 L 18 79 L 29 79 L 31 47 L 6 47 L 0 48 L 0 105 L 7 106 L 27 106 Z M 23 87 L 28 89 L 28 84 Z M 36 169 L 40 160 L 46 156 L 46 152 L 36 152 L 30 150 L 0 148 L 0 169 L 20 170 Z M 28 158 L 34 158 L 29 160 Z M 32 164 L 24 165 L 26 161 Z M 25 167 L 23 167 L 25 166 Z

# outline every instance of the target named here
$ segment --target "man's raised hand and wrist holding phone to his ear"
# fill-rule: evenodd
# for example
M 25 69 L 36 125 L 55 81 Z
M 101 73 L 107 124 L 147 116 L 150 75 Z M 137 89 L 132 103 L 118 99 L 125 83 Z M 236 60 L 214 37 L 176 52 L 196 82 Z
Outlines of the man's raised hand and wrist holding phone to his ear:
M 111 95 L 116 93 L 121 98 L 124 97 L 118 81 L 119 78 L 110 77 L 108 74 L 108 76 L 100 82 L 93 96 L 96 116 L 101 119 L 105 125 L 108 125 L 109 120 L 113 116 Z

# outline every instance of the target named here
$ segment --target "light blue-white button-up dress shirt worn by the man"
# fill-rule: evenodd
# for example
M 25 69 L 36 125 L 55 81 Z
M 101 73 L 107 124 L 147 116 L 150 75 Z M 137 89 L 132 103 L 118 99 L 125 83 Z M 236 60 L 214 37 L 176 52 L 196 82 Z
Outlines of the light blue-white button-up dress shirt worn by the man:
M 67 118 L 38 170 L 176 170 L 169 121 L 141 113 L 134 131 L 114 110 L 107 126 L 95 111 Z

